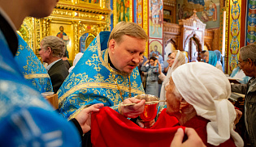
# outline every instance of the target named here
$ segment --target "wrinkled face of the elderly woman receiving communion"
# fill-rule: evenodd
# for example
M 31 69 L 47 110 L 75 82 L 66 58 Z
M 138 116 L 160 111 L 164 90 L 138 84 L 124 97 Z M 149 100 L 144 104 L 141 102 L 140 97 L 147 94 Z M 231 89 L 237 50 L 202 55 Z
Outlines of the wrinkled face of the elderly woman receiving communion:
M 174 93 L 175 84 L 170 78 L 169 84 L 165 87 L 167 98 L 167 114 L 173 115 L 174 113 L 180 113 L 180 98 L 176 97 Z

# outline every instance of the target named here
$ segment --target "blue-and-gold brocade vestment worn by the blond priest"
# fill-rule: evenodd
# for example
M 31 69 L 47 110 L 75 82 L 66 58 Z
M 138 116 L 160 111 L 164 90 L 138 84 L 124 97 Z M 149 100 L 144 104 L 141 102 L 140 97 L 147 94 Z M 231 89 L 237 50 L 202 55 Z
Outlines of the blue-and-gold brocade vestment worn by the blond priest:
M 117 111 L 117 105 L 122 102 L 119 89 L 124 99 L 129 97 L 129 76 L 132 97 L 145 93 L 137 68 L 130 75 L 113 71 L 118 89 L 108 65 L 109 35 L 109 31 L 102 31 L 95 37 L 59 88 L 59 113 L 63 117 L 71 119 L 82 108 L 94 103 L 104 103 Z

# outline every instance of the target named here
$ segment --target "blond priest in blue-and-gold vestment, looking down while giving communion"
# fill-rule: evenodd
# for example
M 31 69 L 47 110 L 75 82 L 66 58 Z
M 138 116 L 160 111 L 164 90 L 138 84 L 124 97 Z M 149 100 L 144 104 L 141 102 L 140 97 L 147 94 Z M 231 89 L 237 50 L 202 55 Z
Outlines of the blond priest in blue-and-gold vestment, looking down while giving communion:
M 137 65 L 147 38 L 136 23 L 120 22 L 111 35 L 102 31 L 59 88 L 59 113 L 69 120 L 83 107 L 104 103 L 126 117 L 136 118 L 144 110 L 145 100 L 131 97 L 145 94 Z M 119 104 L 122 102 L 137 104 L 124 107 Z

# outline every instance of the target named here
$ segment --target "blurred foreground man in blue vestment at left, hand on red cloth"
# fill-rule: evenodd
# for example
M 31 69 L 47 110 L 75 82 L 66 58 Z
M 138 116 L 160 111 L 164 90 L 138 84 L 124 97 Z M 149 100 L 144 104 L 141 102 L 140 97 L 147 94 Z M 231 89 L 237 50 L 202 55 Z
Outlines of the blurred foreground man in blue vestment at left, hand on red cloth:
M 0 0 L 0 142 L 1 146 L 79 146 L 91 111 L 88 107 L 72 123 L 56 113 L 46 99 L 24 79 L 14 57 L 15 33 L 24 18 L 50 15 L 58 0 Z M 39 7 L 38 7 L 39 6 Z M 78 130 L 75 128 L 75 125 Z

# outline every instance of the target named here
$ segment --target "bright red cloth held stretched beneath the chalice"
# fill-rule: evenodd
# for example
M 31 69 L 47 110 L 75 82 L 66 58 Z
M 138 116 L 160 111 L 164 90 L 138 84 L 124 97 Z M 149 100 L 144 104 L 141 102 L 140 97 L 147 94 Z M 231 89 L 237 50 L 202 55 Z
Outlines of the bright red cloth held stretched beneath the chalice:
M 140 128 L 110 107 L 102 107 L 92 114 L 91 141 L 96 147 L 170 147 L 176 130 L 180 128 L 177 123 L 178 120 L 167 115 L 164 109 L 152 128 Z

